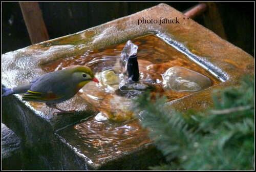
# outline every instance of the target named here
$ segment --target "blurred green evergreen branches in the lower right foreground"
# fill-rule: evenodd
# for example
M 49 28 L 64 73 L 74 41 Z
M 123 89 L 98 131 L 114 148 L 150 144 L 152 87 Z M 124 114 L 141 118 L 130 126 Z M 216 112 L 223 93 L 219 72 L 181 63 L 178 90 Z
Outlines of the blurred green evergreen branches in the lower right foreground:
M 204 114 L 167 113 L 165 97 L 152 102 L 149 94 L 136 100 L 142 126 L 166 157 L 152 169 L 254 169 L 254 76 L 241 87 L 216 91 L 214 107 Z

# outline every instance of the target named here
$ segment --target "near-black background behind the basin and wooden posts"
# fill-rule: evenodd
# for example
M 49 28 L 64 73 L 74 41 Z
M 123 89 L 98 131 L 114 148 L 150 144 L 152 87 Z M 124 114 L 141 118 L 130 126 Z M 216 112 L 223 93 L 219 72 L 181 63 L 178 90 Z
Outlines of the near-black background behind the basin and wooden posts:
M 39 2 L 50 39 L 76 33 L 160 2 Z M 197 2 L 165 2 L 184 11 Z M 217 3 L 229 42 L 254 55 L 254 2 Z M 203 17 L 195 21 L 205 26 Z M 17 2 L 2 2 L 2 53 L 31 45 Z

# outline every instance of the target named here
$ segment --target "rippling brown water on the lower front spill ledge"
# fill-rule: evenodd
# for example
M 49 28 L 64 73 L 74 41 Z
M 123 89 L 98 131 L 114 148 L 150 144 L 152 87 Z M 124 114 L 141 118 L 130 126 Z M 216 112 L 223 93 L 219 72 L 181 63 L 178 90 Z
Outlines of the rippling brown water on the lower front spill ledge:
M 136 119 L 123 123 L 110 122 L 99 113 L 86 121 L 57 132 L 71 147 L 90 163 L 105 161 L 129 153 L 151 140 Z M 85 156 L 86 155 L 86 156 Z

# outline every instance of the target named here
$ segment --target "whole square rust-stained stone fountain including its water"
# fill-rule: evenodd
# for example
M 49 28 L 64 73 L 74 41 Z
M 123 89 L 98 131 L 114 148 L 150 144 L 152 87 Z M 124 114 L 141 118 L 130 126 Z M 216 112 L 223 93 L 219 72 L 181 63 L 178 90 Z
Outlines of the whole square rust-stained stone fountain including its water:
M 142 17 L 160 19 L 163 16 L 180 18 L 180 24 L 138 25 Z M 3 54 L 2 84 L 15 87 L 52 70 L 77 64 L 90 66 L 90 58 L 97 63 L 95 73 L 106 71 L 109 66 L 115 67 L 116 56 L 120 55 L 125 42 L 132 40 L 138 45 L 140 78 L 163 84 L 162 92 L 169 96 L 166 103 L 169 109 L 183 112 L 205 109 L 212 104 L 212 90 L 238 85 L 242 75 L 253 73 L 254 59 L 194 20 L 183 17 L 174 8 L 159 4 L 91 29 Z M 143 37 L 148 34 L 151 36 Z M 156 51 L 151 51 L 153 49 Z M 102 56 L 101 52 L 108 56 Z M 164 58 L 157 58 L 159 55 Z M 112 60 L 112 57 L 115 58 Z M 104 58 L 110 61 L 101 63 Z M 154 77 L 143 75 L 143 70 L 154 71 L 151 73 Z M 184 76 L 186 72 L 191 73 L 189 70 L 202 79 L 190 82 L 190 74 Z M 201 80 L 205 80 L 204 84 L 199 83 Z M 184 82 L 179 84 L 180 81 Z M 194 89 L 189 85 L 194 85 Z M 104 110 L 93 104 L 97 99 L 94 95 L 90 95 L 90 99 L 86 97 L 86 91 L 59 104 L 62 109 L 75 107 L 77 110 L 62 116 L 54 115 L 44 104 L 24 102 L 20 95 L 3 98 L 3 123 L 20 138 L 23 169 L 146 169 L 163 159 L 147 138 L 147 131 L 141 129 L 132 115 L 121 123 L 106 119 L 111 115 L 104 116 Z M 101 100 L 120 97 L 127 98 L 118 95 Z M 115 104 L 117 110 L 119 105 Z M 122 117 L 123 113 L 115 111 L 115 114 Z

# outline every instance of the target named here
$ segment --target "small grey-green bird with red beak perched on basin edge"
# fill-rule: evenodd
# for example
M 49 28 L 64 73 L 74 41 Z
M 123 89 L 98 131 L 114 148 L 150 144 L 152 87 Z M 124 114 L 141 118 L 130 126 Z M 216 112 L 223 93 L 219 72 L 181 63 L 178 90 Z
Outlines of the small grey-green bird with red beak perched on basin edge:
M 90 81 L 99 82 L 92 70 L 85 66 L 49 72 L 33 79 L 29 84 L 14 88 L 2 88 L 3 96 L 25 93 L 24 101 L 45 102 L 47 106 L 58 111 L 58 114 L 69 113 L 56 106 L 71 99 L 85 84 Z M 74 112 L 74 111 L 72 111 Z

